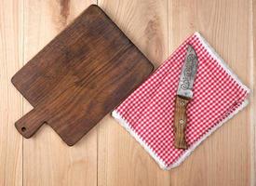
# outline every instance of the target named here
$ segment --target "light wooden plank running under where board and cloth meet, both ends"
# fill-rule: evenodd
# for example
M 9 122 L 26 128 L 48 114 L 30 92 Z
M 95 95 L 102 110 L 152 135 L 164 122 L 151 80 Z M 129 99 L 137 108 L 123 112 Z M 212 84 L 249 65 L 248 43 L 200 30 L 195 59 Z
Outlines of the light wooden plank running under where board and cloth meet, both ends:
M 167 58 L 166 1 L 100 0 L 99 6 L 156 66 Z M 98 132 L 99 186 L 169 185 L 168 171 L 162 171 L 110 115 Z

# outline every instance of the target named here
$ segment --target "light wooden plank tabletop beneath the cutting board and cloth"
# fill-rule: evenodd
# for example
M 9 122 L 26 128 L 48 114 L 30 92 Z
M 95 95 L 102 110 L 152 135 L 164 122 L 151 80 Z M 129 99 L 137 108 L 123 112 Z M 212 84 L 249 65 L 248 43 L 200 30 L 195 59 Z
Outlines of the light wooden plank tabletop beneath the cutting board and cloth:
M 14 122 L 31 110 L 10 78 L 90 4 L 98 4 L 155 63 L 199 31 L 255 92 L 253 0 L 0 0 L 0 185 L 253 186 L 255 93 L 182 164 L 160 169 L 107 115 L 74 147 L 49 127 L 23 139 Z

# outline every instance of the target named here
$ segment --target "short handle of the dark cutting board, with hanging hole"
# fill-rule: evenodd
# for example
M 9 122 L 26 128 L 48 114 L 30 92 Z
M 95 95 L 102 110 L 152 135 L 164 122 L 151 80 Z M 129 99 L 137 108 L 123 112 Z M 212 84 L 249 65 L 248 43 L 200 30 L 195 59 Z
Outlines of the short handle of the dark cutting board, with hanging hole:
M 42 126 L 47 123 L 47 114 L 41 108 L 34 108 L 29 113 L 23 115 L 20 120 L 15 123 L 17 130 L 26 139 L 32 137 L 34 133 Z

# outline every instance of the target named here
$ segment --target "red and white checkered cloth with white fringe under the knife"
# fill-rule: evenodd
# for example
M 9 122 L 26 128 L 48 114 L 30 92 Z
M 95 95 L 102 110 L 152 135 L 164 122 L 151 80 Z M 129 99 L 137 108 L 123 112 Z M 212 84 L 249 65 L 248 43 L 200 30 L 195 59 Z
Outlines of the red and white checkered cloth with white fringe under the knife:
M 198 69 L 187 108 L 188 150 L 176 149 L 174 105 L 187 44 L 195 48 Z M 205 39 L 194 33 L 112 115 L 165 169 L 178 166 L 219 126 L 248 103 L 244 86 Z

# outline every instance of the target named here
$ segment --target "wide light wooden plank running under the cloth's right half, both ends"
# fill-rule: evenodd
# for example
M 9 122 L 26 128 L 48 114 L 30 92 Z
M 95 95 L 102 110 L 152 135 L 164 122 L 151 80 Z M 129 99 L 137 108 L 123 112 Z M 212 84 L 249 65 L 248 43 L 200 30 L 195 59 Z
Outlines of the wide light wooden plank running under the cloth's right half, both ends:
M 168 1 L 168 52 L 199 31 L 249 85 L 249 0 Z M 170 171 L 171 185 L 249 185 L 247 107 Z

